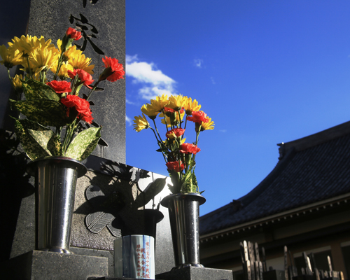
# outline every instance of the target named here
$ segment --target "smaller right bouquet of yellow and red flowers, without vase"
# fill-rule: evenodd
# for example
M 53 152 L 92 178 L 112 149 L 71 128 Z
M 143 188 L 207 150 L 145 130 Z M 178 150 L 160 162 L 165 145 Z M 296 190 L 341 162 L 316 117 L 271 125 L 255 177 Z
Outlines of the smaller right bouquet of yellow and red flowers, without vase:
M 197 100 L 192 100 L 182 95 L 172 95 L 151 99 L 151 104 L 141 107 L 142 116 L 134 118 L 134 130 L 140 132 L 144 129 L 151 129 L 155 135 L 158 146 L 157 151 L 161 152 L 165 160 L 165 165 L 172 179 L 172 186 L 169 186 L 172 193 L 202 193 L 198 190 L 195 176 L 195 158 L 200 148 L 198 139 L 200 132 L 213 130 L 214 122 L 206 113 L 200 111 L 201 106 Z M 186 114 L 186 119 L 183 120 Z M 146 119 L 146 116 L 153 122 L 154 128 Z M 160 122 L 165 125 L 167 132 L 165 140 L 158 131 L 155 123 L 157 116 L 162 118 Z M 195 141 L 186 143 L 185 131 L 188 121 L 195 123 Z

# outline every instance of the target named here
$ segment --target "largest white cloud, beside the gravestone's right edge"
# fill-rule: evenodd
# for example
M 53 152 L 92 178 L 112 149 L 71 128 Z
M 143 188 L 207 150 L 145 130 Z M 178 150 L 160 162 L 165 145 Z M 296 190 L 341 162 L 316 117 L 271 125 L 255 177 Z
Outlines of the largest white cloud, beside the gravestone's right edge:
M 141 83 L 139 95 L 142 99 L 154 99 L 163 93 L 176 94 L 176 81 L 156 69 L 154 63 L 140 62 L 137 55 L 126 56 L 126 75 L 133 78 L 132 83 Z

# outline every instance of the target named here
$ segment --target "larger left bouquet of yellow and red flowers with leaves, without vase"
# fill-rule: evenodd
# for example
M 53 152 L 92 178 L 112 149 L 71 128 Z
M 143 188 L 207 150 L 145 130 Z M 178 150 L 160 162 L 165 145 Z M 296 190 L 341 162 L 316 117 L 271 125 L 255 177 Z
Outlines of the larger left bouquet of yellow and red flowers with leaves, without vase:
M 57 48 L 43 36 L 15 37 L 0 46 L 3 64 L 18 100 L 10 99 L 12 109 L 27 118 L 15 119 L 15 132 L 31 160 L 46 156 L 64 156 L 84 160 L 101 137 L 101 127 L 93 122 L 90 96 L 102 80 L 114 82 L 123 78 L 123 65 L 111 57 L 102 59 L 106 69 L 94 83 L 91 59 L 73 41 L 80 31 L 69 27 Z M 24 75 L 10 77 L 10 68 L 22 65 Z M 70 79 L 70 80 L 69 80 Z M 80 94 L 81 87 L 90 90 Z M 24 92 L 25 100 L 20 100 Z

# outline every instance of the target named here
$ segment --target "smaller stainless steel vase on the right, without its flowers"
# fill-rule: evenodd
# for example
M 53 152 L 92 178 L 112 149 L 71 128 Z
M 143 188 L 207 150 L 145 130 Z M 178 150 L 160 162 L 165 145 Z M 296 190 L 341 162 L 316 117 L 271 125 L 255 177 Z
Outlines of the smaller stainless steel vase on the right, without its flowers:
M 161 204 L 169 210 L 174 247 L 175 267 L 200 264 L 200 205 L 205 198 L 198 193 L 176 194 L 165 197 Z

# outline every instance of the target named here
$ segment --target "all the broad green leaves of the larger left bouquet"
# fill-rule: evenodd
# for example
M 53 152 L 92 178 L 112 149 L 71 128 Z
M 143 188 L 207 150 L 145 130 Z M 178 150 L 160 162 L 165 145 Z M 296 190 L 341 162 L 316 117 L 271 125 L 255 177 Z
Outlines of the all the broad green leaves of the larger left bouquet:
M 36 80 L 22 80 L 22 88 L 26 100 L 10 99 L 10 104 L 27 117 L 25 120 L 16 120 L 15 130 L 28 157 L 35 160 L 45 156 L 64 155 L 59 132 L 62 127 L 74 123 L 75 118 L 66 116 L 66 106 L 48 85 Z M 56 133 L 47 126 L 55 127 Z M 73 141 L 71 138 L 74 134 L 69 134 L 71 143 L 65 156 L 76 160 L 87 158 L 97 146 L 100 131 L 101 127 L 90 127 L 78 133 Z

